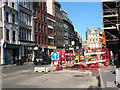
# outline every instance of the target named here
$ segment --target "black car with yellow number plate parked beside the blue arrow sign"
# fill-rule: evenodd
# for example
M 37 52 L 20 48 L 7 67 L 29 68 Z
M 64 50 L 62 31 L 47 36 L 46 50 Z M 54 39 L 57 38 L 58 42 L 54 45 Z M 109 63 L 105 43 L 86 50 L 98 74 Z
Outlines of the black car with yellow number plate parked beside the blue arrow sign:
M 51 63 L 51 59 L 50 59 L 48 54 L 46 54 L 46 53 L 39 53 L 39 54 L 37 54 L 34 57 L 33 63 L 35 65 L 38 65 L 38 64 L 42 64 L 42 65 L 43 64 L 50 64 Z

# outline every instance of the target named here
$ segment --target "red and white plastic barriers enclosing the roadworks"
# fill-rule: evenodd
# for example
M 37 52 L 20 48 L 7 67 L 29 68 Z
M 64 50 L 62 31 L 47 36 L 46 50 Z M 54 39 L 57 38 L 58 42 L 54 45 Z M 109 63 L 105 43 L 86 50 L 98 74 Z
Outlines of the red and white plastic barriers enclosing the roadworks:
M 65 50 L 65 58 L 60 58 L 63 68 L 75 70 L 88 70 L 108 67 L 109 50 L 108 48 L 89 49 L 81 55 L 80 50 Z

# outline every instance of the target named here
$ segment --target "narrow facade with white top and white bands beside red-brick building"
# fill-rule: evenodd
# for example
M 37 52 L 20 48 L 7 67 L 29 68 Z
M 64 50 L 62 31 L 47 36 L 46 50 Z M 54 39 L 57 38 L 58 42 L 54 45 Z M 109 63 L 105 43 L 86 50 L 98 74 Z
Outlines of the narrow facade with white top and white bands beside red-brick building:
M 53 1 L 47 0 L 47 23 L 48 23 L 48 46 L 49 54 L 56 49 L 56 21 L 55 5 Z

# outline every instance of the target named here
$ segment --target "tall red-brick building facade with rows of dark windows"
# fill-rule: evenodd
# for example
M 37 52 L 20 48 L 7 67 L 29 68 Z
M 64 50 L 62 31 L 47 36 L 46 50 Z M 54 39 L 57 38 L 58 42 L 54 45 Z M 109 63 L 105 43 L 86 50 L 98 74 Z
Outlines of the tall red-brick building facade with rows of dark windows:
M 46 2 L 33 2 L 33 22 L 35 45 L 38 47 L 35 53 L 47 53 L 48 49 L 48 26 Z M 43 48 L 43 50 L 42 50 Z

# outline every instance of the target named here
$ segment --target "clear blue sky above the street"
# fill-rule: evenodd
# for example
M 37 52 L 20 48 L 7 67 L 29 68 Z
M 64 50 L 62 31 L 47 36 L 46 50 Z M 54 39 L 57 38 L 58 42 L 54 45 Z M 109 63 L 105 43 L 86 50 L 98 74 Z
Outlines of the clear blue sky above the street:
M 74 29 L 78 31 L 82 40 L 86 40 L 87 28 L 102 29 L 101 2 L 59 2 L 62 10 L 68 13 Z

